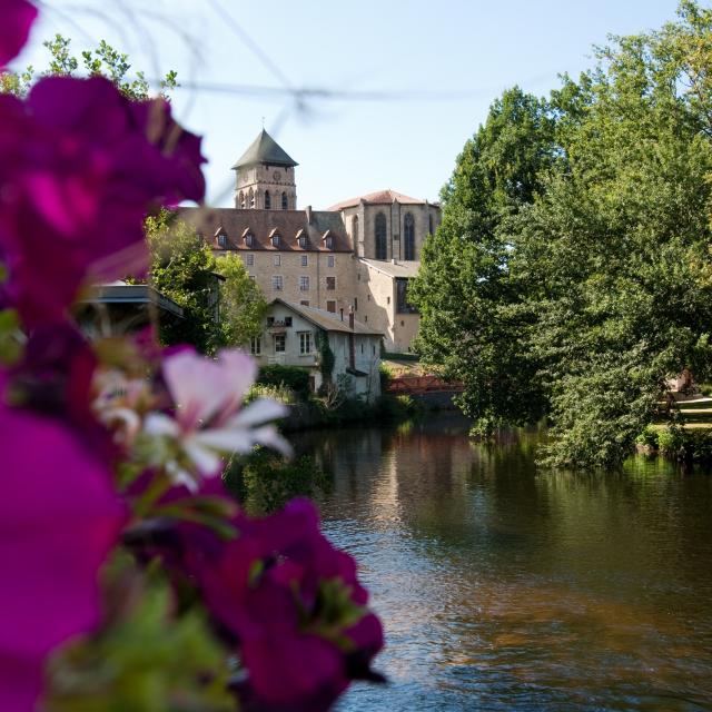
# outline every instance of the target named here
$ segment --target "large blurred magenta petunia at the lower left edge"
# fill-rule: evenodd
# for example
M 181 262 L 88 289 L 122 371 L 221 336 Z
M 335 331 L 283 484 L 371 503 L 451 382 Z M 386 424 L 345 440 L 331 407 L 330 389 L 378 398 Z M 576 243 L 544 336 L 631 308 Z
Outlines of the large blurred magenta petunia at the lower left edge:
M 47 654 L 100 619 L 125 523 L 110 475 L 63 425 L 0 404 L 0 710 L 30 711 Z

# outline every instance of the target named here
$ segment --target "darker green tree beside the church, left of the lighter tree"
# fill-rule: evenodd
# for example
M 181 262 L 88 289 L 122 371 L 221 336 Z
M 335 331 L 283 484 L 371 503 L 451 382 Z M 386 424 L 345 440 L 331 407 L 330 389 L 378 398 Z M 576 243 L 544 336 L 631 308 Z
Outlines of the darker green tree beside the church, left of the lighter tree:
M 522 299 L 526 279 L 512 276 L 500 228 L 541 191 L 540 176 L 556 159 L 546 103 L 505 91 L 457 158 L 442 192 L 443 222 L 408 291 L 421 313 L 416 349 L 465 383 L 461 407 L 481 434 L 543 412 L 538 364 L 523 338 L 535 322 Z

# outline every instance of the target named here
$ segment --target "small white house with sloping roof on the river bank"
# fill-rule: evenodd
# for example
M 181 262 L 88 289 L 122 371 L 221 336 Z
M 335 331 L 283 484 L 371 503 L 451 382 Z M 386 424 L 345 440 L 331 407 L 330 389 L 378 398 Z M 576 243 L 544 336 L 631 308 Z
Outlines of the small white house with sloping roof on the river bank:
M 332 382 L 344 384 L 367 402 L 380 395 L 380 343 L 383 334 L 354 319 L 354 314 L 274 299 L 267 308 L 261 336 L 250 350 L 260 366 L 280 364 L 309 370 L 313 390 L 324 383 L 323 354 L 334 354 Z

